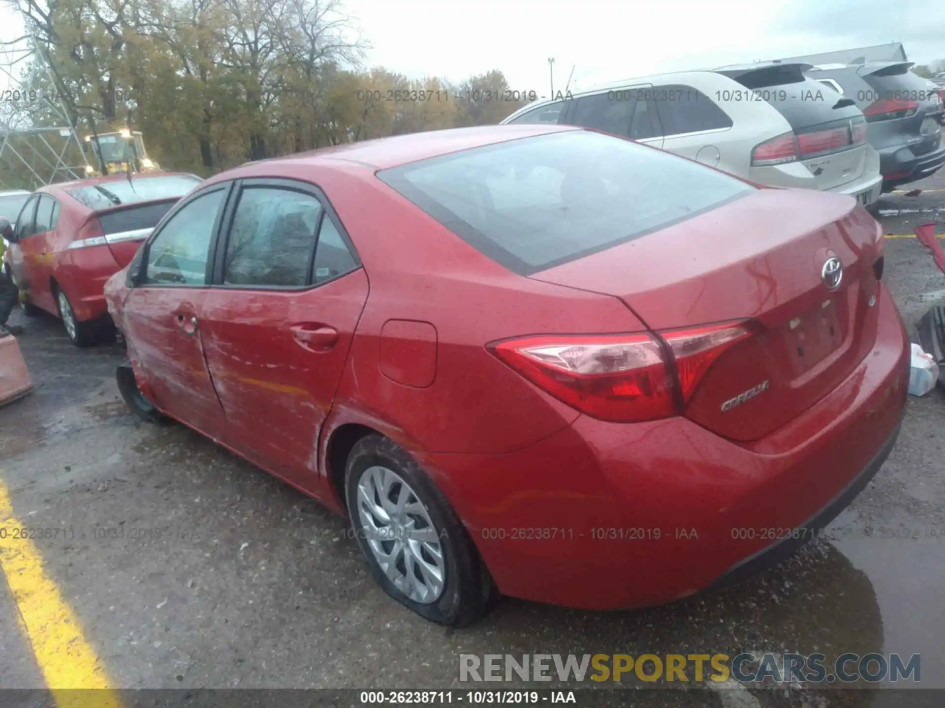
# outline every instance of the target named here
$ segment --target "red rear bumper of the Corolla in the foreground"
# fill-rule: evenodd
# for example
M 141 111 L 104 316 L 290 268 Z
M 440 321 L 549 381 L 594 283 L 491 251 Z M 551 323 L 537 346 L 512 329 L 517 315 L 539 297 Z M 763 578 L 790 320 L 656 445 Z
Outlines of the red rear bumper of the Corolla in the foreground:
M 798 532 L 809 540 L 885 460 L 909 343 L 885 288 L 877 307 L 864 360 L 762 440 L 736 444 L 681 417 L 582 415 L 520 452 L 421 463 L 507 595 L 589 609 L 691 596 L 794 550 Z

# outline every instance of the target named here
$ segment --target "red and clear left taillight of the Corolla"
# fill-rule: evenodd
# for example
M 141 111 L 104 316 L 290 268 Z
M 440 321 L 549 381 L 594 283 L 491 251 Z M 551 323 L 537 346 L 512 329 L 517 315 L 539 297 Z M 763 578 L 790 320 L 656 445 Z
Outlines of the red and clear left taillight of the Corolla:
M 723 324 L 657 335 L 538 335 L 488 348 L 578 411 L 630 423 L 681 413 L 712 363 L 748 336 L 744 324 Z

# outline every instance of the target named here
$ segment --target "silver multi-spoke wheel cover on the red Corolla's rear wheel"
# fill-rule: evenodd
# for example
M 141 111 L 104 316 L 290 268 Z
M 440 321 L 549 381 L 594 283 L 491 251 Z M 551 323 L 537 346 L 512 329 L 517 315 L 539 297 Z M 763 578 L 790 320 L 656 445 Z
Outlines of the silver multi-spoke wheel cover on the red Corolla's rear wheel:
M 384 466 L 368 467 L 357 483 L 360 532 L 387 579 L 407 598 L 434 602 L 446 586 L 439 531 L 417 493 Z

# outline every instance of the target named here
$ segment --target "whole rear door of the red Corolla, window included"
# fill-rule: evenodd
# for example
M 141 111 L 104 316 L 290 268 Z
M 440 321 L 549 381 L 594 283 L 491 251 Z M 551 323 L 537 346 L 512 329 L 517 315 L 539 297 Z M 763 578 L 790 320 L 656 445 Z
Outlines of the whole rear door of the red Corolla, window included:
M 327 199 L 307 183 L 245 180 L 226 223 L 199 319 L 228 442 L 311 488 L 318 431 L 368 278 Z

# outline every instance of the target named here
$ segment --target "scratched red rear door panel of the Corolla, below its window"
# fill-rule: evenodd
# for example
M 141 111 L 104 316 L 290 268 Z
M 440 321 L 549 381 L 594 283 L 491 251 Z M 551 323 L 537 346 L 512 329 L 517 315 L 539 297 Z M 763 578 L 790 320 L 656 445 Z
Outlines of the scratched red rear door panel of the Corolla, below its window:
M 215 288 L 201 305 L 207 363 L 227 419 L 224 440 L 317 497 L 318 432 L 368 290 L 359 269 L 303 291 Z

